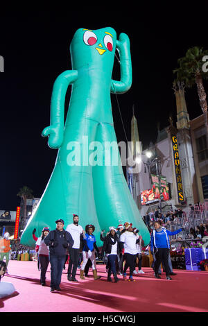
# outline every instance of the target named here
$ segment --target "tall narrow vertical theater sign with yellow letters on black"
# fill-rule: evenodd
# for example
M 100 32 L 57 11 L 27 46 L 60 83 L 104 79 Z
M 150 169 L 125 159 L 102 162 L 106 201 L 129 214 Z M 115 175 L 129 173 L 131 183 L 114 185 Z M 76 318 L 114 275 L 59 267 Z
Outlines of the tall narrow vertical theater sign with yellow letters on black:
M 177 146 L 177 137 L 172 135 L 172 145 L 173 145 L 173 162 L 175 166 L 175 178 L 177 185 L 177 198 L 178 202 L 182 203 L 184 201 L 184 192 L 182 187 L 182 175 L 180 170 L 180 159 L 178 154 L 178 146 Z

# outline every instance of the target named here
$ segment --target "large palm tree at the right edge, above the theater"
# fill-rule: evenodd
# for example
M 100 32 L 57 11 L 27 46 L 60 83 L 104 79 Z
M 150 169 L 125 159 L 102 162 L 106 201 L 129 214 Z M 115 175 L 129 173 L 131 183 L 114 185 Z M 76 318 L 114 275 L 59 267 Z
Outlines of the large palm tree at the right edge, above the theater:
M 205 114 L 205 126 L 208 139 L 207 96 L 203 85 L 203 79 L 208 79 L 208 74 L 202 71 L 202 65 L 204 63 L 202 58 L 205 55 L 208 55 L 207 50 L 204 50 L 199 46 L 193 46 L 187 50 L 187 53 L 183 58 L 177 60 L 177 63 L 180 67 L 174 69 L 173 73 L 177 74 L 177 78 L 174 81 L 175 85 L 178 82 L 184 83 L 187 87 L 193 87 L 193 85 L 197 85 L 200 107 L 202 112 Z

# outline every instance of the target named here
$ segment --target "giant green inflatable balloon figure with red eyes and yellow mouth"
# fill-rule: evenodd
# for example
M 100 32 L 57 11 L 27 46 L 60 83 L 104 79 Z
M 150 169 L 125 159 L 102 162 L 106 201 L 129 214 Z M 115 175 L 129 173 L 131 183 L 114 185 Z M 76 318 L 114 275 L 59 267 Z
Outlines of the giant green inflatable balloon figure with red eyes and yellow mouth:
M 120 81 L 112 80 L 116 49 L 120 57 Z M 66 228 L 72 223 L 73 214 L 77 214 L 84 229 L 88 223 L 95 225 L 98 246 L 103 245 L 101 230 L 125 222 L 139 228 L 147 245 L 149 232 L 128 189 L 121 161 L 114 164 L 109 151 L 101 155 L 102 148 L 114 142 L 116 149 L 111 152 L 120 157 L 110 93 L 127 92 L 132 84 L 128 35 L 121 33 L 116 40 L 116 32 L 110 27 L 96 31 L 79 28 L 70 52 L 72 70 L 64 71 L 55 80 L 51 124 L 42 132 L 49 137 L 49 147 L 59 148 L 55 167 L 21 243 L 32 246 L 34 228 L 40 237 L 44 226 L 52 230 L 55 220 L 62 218 Z M 71 98 L 64 123 L 64 101 L 70 84 Z

